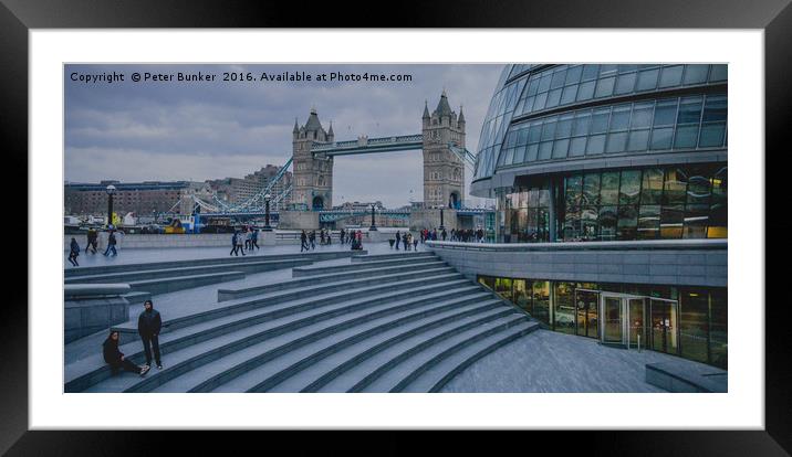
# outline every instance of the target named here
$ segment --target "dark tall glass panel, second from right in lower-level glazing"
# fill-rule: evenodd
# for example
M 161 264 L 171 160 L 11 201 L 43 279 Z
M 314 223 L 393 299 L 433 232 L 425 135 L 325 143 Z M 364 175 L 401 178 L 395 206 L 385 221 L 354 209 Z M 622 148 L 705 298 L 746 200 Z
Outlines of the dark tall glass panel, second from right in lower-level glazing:
M 706 290 L 684 289 L 679 304 L 679 346 L 685 359 L 707 363 L 709 295 Z

